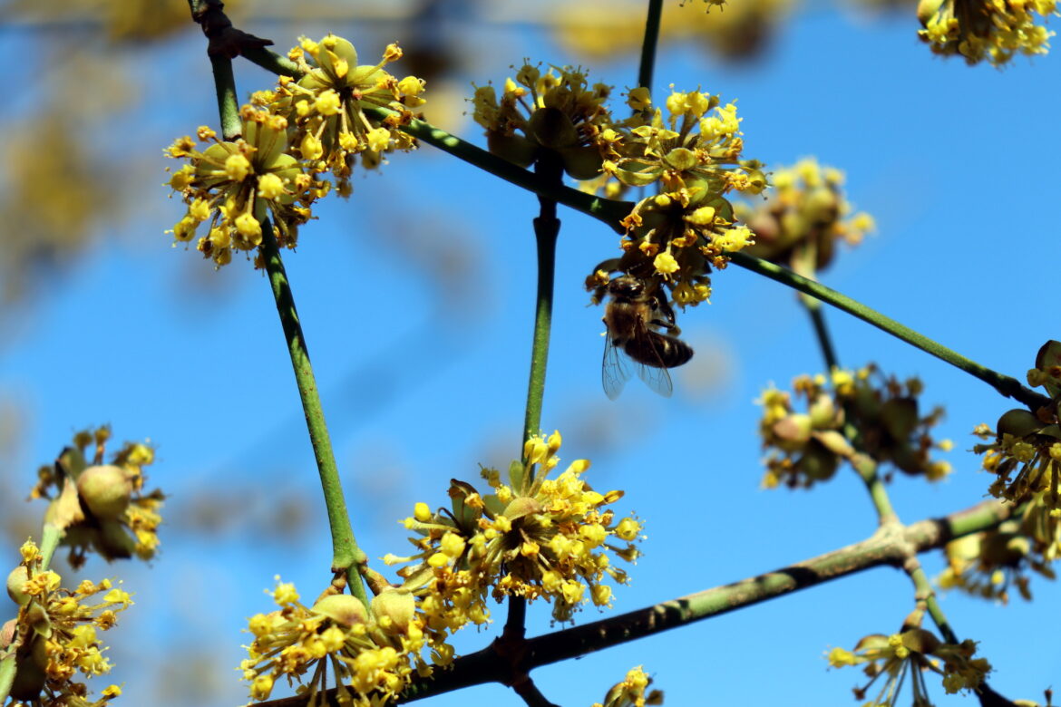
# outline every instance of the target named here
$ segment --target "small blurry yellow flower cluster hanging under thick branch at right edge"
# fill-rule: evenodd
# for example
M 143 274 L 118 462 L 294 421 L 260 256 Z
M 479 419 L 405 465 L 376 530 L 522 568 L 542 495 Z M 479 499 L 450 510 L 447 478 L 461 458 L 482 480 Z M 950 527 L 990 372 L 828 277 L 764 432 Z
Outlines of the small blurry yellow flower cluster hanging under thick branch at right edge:
M 944 589 L 960 589 L 974 597 L 1009 602 L 1009 589 L 1031 601 L 1031 569 L 1054 579 L 1054 570 L 1039 556 L 1038 544 L 1029 536 L 1024 519 L 1011 519 L 997 528 L 966 535 L 946 544 L 947 566 L 936 578 Z

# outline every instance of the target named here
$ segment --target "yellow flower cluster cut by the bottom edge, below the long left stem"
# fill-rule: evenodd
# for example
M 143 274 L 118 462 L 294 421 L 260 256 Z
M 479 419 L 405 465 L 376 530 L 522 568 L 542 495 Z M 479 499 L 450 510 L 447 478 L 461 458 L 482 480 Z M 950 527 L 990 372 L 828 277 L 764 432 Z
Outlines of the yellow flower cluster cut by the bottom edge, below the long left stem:
M 326 593 L 311 607 L 299 602 L 293 584 L 273 591 L 280 607 L 250 617 L 255 640 L 240 666 L 250 684 L 253 700 L 268 700 L 278 679 L 309 684 L 298 693 L 311 707 L 329 704 L 325 689 L 329 668 L 338 689 L 338 703 L 378 707 L 404 689 L 414 675 L 431 674 L 421 653 L 432 652 L 434 665 L 447 665 L 453 650 L 443 636 L 425 626 L 424 614 L 413 595 L 384 589 L 371 601 L 371 612 L 359 599 Z

